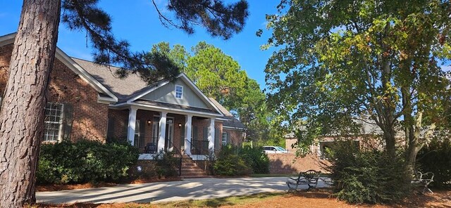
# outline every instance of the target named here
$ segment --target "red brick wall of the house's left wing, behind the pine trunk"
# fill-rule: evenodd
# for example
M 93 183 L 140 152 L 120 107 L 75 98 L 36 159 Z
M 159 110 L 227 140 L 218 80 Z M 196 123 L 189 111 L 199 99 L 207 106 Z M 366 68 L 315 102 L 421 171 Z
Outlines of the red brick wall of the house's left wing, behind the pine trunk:
M 8 65 L 13 45 L 0 47 L 0 91 L 4 92 L 8 79 Z M 61 61 L 54 62 L 50 74 L 47 100 L 73 105 L 73 124 L 70 139 L 80 138 L 105 141 L 108 105 L 97 103 L 97 91 Z

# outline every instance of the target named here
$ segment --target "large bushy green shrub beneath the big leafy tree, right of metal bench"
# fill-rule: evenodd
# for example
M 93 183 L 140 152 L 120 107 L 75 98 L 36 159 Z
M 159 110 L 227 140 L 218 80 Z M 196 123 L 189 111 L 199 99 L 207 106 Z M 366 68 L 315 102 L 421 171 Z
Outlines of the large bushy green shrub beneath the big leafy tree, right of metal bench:
M 380 150 L 350 148 L 338 142 L 330 150 L 330 177 L 334 195 L 350 203 L 397 202 L 410 192 L 409 171 L 402 157 Z

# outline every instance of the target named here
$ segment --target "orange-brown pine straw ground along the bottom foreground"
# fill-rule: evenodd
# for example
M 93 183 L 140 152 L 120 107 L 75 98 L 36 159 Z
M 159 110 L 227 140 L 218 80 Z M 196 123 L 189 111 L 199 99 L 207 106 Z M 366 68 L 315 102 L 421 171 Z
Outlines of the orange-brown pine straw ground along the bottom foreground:
M 44 205 L 37 204 L 33 207 L 333 207 L 333 208 L 350 208 L 350 207 L 443 207 L 451 208 L 451 190 L 435 190 L 433 194 L 414 194 L 412 197 L 404 200 L 400 204 L 347 204 L 338 201 L 334 197 L 330 197 L 330 191 L 318 190 L 314 192 L 285 193 L 276 195 L 252 195 L 238 197 L 238 199 L 228 200 L 212 199 L 202 200 L 201 202 L 185 201 L 171 202 L 164 204 L 136 204 L 136 203 L 120 203 L 120 204 L 61 204 L 61 205 Z

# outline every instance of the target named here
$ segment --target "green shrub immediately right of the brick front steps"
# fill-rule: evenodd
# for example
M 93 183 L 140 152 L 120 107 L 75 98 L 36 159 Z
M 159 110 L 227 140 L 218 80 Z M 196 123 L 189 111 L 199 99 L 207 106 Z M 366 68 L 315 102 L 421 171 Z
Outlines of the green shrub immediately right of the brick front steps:
M 244 176 L 251 173 L 245 161 L 238 155 L 232 145 L 223 146 L 214 163 L 214 171 L 221 176 Z

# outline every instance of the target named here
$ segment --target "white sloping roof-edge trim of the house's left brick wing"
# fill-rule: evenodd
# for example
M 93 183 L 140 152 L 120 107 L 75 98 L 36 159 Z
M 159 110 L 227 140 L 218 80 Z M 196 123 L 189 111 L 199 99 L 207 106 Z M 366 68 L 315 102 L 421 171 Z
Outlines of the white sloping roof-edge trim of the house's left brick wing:
M 0 37 L 0 46 L 5 46 L 14 43 L 14 38 L 16 37 L 16 32 L 11 34 L 6 34 Z M 70 58 L 66 53 L 61 51 L 60 48 L 56 47 L 55 58 L 60 60 L 64 65 L 69 67 L 75 74 L 78 74 L 80 78 L 85 80 L 90 86 L 99 92 L 99 98 L 104 98 L 112 102 L 117 102 L 118 98 L 104 85 L 94 79 L 91 74 L 89 74 L 83 67 L 75 63 L 75 61 Z

